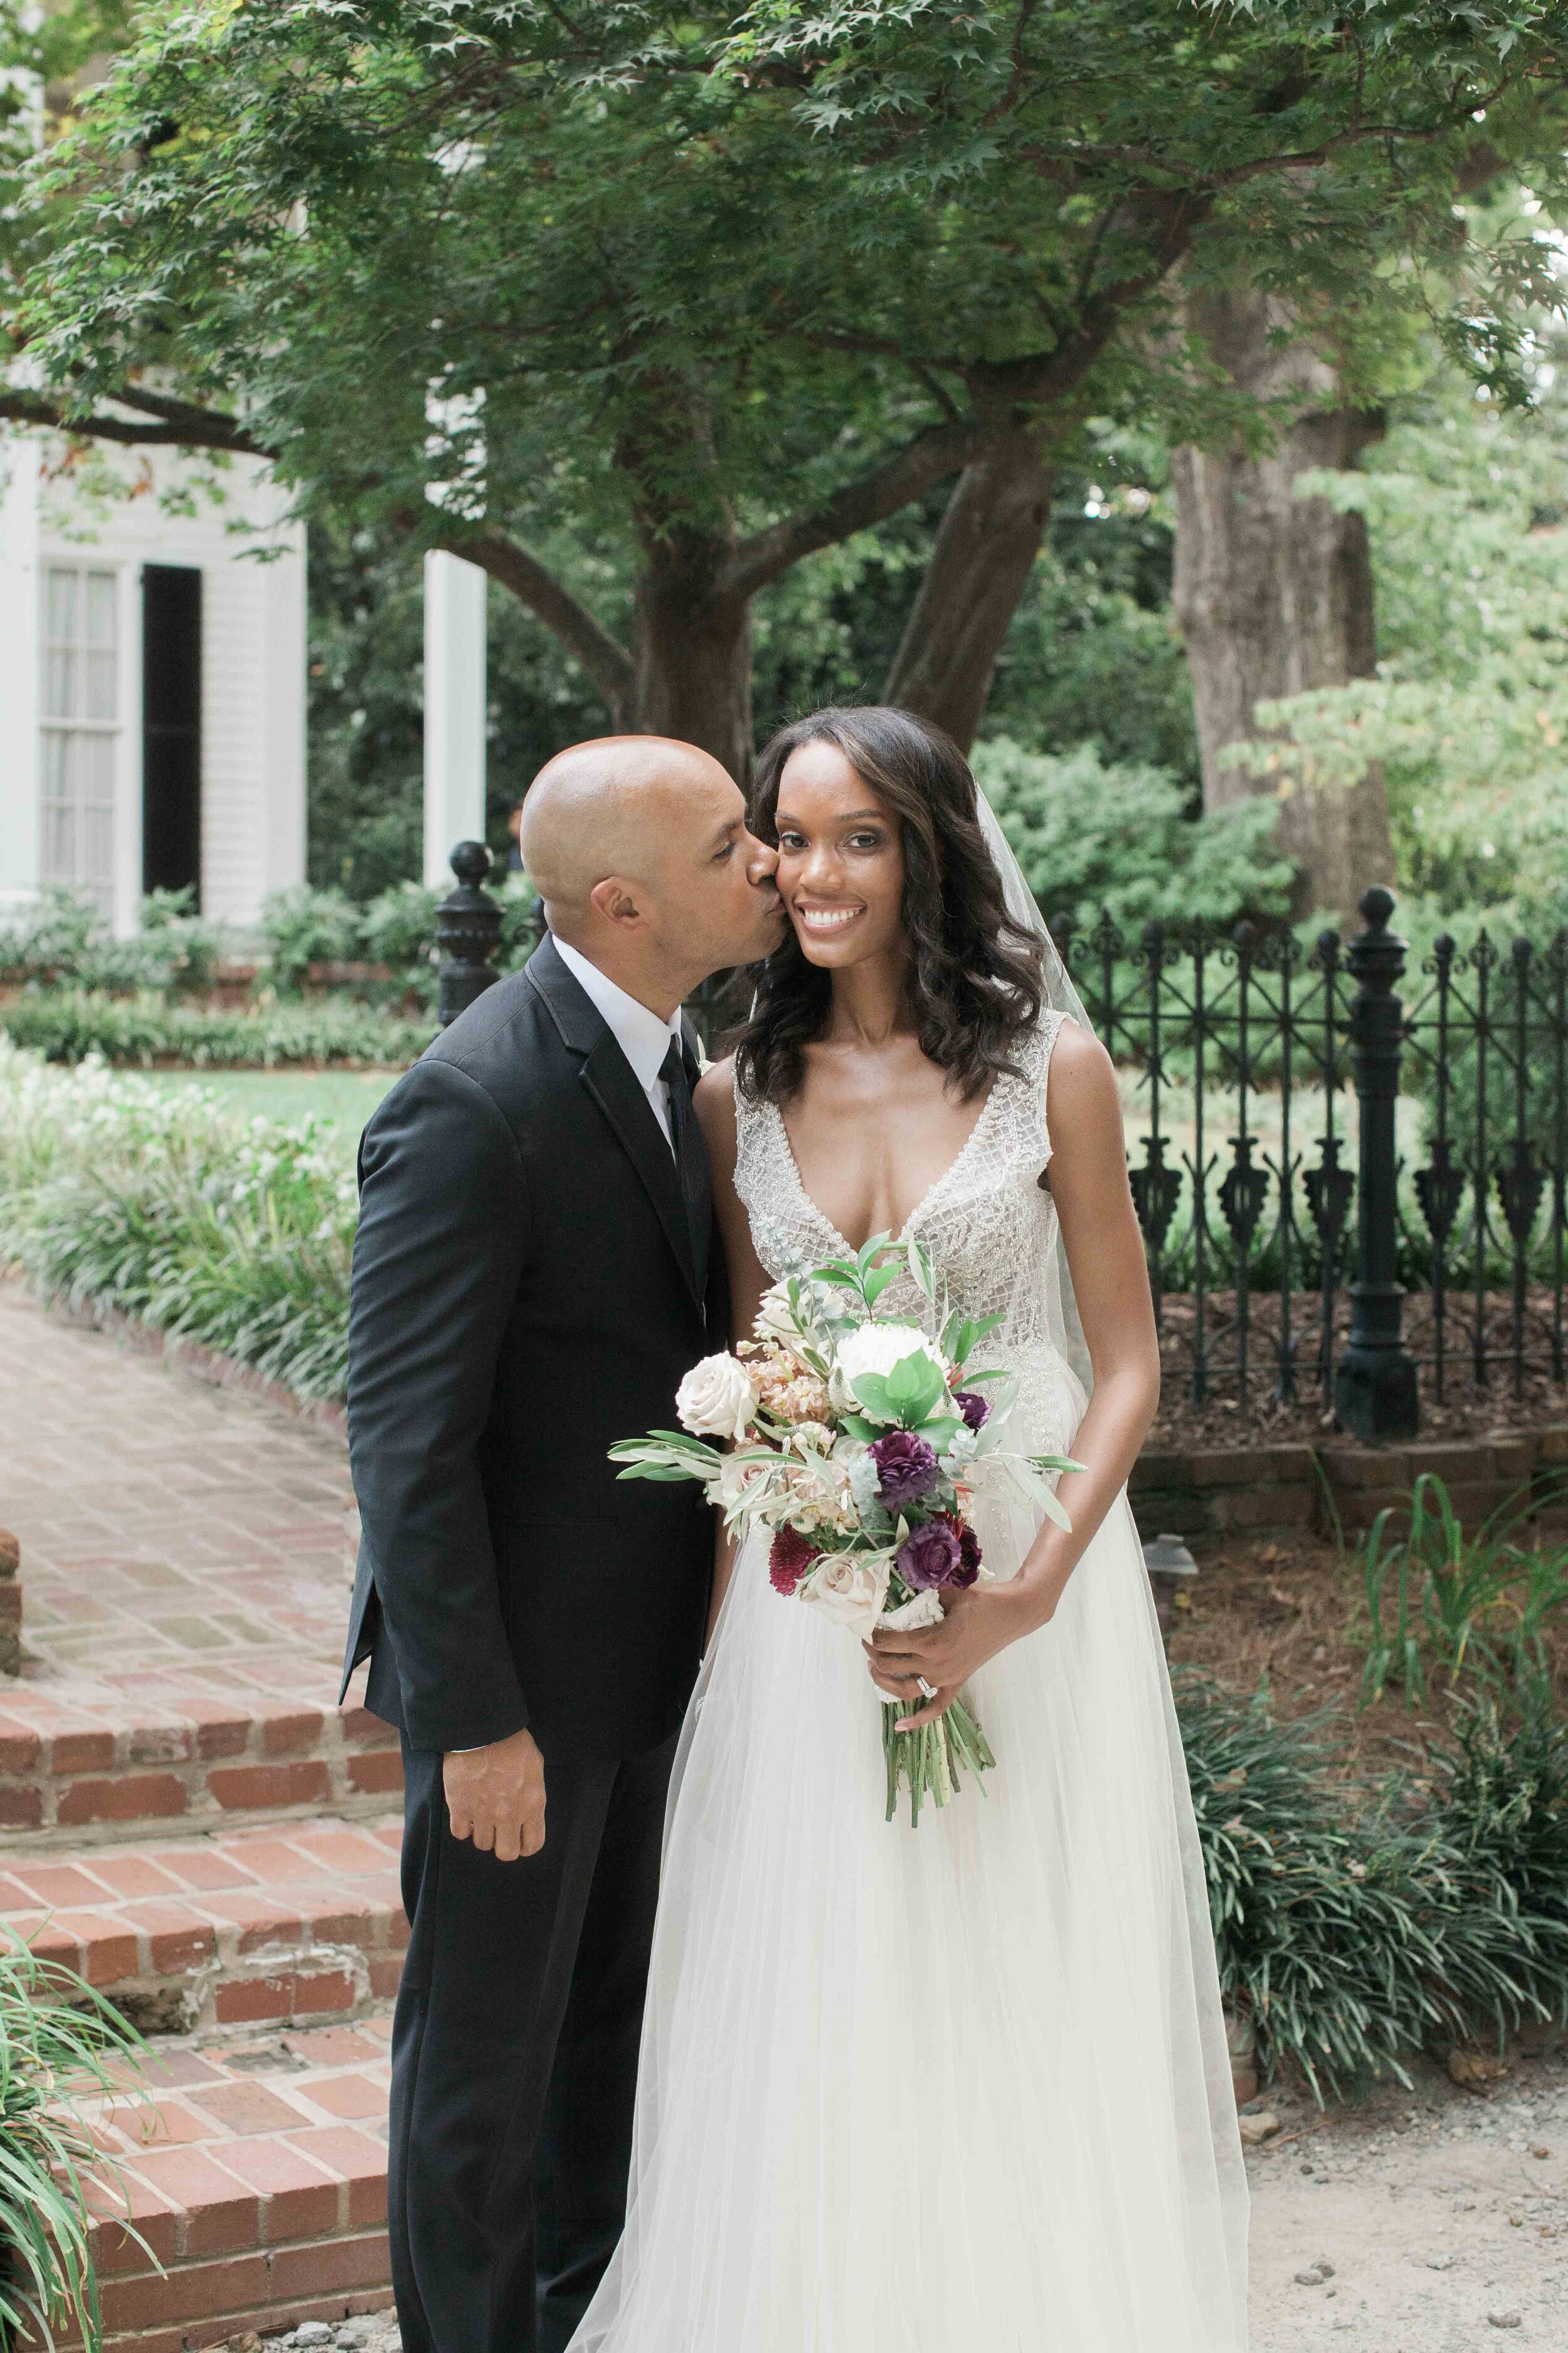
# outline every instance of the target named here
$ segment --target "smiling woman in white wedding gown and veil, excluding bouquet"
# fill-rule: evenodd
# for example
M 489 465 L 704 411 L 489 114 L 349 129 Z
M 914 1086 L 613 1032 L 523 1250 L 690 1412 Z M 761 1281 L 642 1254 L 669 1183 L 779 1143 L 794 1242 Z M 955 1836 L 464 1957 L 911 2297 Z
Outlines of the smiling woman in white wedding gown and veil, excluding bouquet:
M 938 729 L 823 711 L 755 798 L 792 936 L 698 1087 L 736 1334 L 776 1278 L 917 1235 L 1006 1318 L 1009 1442 L 1084 1468 L 1070 1534 L 980 1506 L 997 1581 L 867 1652 L 780 1607 L 766 1539 L 722 1562 L 628 2226 L 571 2353 L 1239 2353 L 1246 2184 L 1126 1504 L 1159 1358 L 1114 1073 Z M 882 1694 L 919 1725 L 964 1687 L 997 1769 L 886 1824 Z

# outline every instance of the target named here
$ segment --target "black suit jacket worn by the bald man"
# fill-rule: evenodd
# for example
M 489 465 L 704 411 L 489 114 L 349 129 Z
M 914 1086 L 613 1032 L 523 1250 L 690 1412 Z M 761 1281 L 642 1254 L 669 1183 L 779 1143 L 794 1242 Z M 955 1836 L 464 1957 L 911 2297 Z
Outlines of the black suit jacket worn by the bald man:
M 362 1544 L 343 1685 L 416 1748 L 531 1725 L 635 1755 L 698 1666 L 712 1520 L 618 1482 L 724 1346 L 670 1146 L 552 941 L 414 1064 L 360 1144 L 348 1445 Z

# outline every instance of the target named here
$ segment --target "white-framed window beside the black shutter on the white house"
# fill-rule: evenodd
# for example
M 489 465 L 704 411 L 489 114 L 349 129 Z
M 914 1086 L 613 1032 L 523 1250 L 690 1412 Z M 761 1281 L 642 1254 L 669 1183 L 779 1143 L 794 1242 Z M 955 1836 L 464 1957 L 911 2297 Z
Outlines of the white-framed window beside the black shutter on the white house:
M 42 880 L 92 892 L 115 880 L 120 595 L 113 572 L 45 565 Z

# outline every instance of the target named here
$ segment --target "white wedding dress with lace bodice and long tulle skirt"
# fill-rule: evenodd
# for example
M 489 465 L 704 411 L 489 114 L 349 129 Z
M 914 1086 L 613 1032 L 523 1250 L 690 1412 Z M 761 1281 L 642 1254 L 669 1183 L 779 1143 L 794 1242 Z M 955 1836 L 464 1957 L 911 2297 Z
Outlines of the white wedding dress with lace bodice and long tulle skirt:
M 976 1360 L 1018 1374 L 1027 1452 L 1084 1412 L 1037 1181 L 1058 1026 L 907 1226 L 1006 1315 Z M 738 1118 L 766 1273 L 842 1254 L 778 1111 Z M 917 1320 L 900 1287 L 879 1313 Z M 1011 1577 L 1032 1520 L 976 1518 Z M 860 1645 L 743 1548 L 675 1767 L 625 2238 L 571 2353 L 1241 2353 L 1246 2179 L 1126 1499 L 969 1689 L 997 1769 L 884 1821 Z

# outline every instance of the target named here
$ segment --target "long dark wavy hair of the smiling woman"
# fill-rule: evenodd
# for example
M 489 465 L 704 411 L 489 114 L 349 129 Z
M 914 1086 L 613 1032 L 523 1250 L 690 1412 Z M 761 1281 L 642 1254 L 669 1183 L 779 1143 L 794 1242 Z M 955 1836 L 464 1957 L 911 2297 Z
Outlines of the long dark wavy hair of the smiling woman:
M 780 727 L 757 762 L 752 831 L 764 842 L 778 842 L 778 779 L 802 744 L 837 744 L 898 819 L 914 1033 L 969 1099 L 999 1071 L 1016 1071 L 1009 1052 L 1044 1005 L 1039 941 L 1006 911 L 969 760 L 912 711 L 886 704 L 813 711 Z M 795 1094 L 806 1071 L 804 1047 L 823 1035 L 830 1000 L 830 974 L 802 955 L 790 929 L 757 967 L 757 995 L 736 1042 L 736 1073 L 750 1101 L 783 1104 Z

